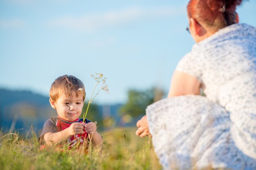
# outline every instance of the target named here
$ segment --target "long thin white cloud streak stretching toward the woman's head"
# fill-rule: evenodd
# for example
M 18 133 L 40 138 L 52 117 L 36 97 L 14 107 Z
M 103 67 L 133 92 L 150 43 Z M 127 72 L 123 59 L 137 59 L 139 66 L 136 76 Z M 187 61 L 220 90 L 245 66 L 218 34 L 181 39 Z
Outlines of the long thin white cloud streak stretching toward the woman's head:
M 47 24 L 53 27 L 69 28 L 76 31 L 92 32 L 111 26 L 128 24 L 136 20 L 147 18 L 172 17 L 182 13 L 182 8 L 162 7 L 155 9 L 141 9 L 132 7 L 101 14 L 86 14 L 81 17 L 65 16 L 53 19 Z

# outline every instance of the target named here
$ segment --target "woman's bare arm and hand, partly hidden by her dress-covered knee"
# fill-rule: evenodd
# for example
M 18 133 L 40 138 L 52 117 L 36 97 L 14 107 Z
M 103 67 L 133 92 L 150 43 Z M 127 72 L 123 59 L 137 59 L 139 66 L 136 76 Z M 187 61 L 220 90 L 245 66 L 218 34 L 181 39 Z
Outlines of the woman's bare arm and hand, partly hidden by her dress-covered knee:
M 188 94 L 199 95 L 200 85 L 200 81 L 194 76 L 175 70 L 171 80 L 171 87 L 168 98 Z M 146 116 L 143 116 L 141 120 L 137 122 L 137 127 L 137 136 L 144 137 L 146 135 L 150 135 Z

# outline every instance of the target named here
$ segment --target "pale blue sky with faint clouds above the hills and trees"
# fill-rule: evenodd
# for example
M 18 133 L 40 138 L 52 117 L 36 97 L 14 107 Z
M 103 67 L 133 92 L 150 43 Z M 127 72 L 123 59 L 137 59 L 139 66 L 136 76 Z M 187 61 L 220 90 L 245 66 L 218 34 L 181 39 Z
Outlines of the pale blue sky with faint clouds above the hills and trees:
M 194 44 L 185 30 L 187 2 L 0 0 L 0 87 L 48 96 L 55 78 L 72 74 L 90 95 L 90 74 L 100 72 L 110 92 L 97 103 L 125 102 L 131 88 L 168 92 Z M 240 22 L 256 26 L 255 9 L 255 0 L 238 7 Z

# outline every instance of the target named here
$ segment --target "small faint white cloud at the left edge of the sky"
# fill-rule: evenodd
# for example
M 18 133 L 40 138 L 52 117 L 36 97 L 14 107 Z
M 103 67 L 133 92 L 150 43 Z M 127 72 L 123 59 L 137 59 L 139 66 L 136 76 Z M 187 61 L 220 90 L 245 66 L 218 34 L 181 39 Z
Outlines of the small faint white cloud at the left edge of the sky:
M 21 19 L 0 19 L 0 28 L 21 28 L 25 22 Z

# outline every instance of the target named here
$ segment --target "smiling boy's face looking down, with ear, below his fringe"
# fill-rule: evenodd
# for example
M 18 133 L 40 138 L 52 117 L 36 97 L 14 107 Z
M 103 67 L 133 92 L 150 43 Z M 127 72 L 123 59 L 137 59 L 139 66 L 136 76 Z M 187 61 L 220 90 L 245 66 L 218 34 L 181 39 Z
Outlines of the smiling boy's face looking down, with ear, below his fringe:
M 53 101 L 52 98 L 50 98 L 49 101 L 52 108 L 56 109 L 58 116 L 67 121 L 72 122 L 76 120 L 82 113 L 83 94 L 79 94 L 79 96 L 76 97 L 75 92 L 72 92 L 70 96 L 65 96 L 63 93 L 57 101 Z

